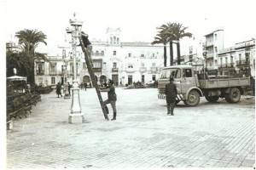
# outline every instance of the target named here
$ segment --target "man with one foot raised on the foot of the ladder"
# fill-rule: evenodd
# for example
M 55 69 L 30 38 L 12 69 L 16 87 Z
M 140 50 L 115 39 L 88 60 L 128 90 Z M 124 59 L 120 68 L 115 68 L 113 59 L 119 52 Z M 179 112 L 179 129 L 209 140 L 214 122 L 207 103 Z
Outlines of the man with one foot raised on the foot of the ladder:
M 103 102 L 103 105 L 106 108 L 107 114 L 108 114 L 108 104 L 111 105 L 112 109 L 113 109 L 113 118 L 111 119 L 111 121 L 116 120 L 116 94 L 115 94 L 115 88 L 113 86 L 113 80 L 108 80 L 108 86 L 106 88 L 100 89 L 101 92 L 108 92 L 108 99 L 106 99 Z

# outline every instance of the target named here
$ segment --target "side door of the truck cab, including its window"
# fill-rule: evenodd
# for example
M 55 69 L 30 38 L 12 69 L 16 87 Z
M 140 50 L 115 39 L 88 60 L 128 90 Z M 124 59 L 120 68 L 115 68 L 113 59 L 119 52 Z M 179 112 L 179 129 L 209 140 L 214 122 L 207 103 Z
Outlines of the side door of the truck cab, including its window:
M 181 94 L 185 94 L 189 90 L 189 88 L 196 86 L 195 77 L 193 74 L 194 72 L 192 71 L 192 69 L 183 69 L 180 81 Z

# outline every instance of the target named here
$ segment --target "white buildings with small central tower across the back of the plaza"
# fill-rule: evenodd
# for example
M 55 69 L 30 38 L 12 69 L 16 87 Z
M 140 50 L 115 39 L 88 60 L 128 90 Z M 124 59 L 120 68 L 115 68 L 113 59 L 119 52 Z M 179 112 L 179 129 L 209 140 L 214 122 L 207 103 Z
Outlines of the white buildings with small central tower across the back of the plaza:
M 159 79 L 164 63 L 164 46 L 150 42 L 121 42 L 119 28 L 107 29 L 107 41 L 90 41 L 93 71 L 98 84 L 112 79 L 115 85 L 131 85 L 133 82 L 152 83 Z M 90 38 L 90 37 L 89 37 Z M 70 45 L 71 46 L 71 45 Z M 68 42 L 58 48 L 62 56 L 49 56 L 49 61 L 36 62 L 35 81 L 38 85 L 55 85 L 73 81 L 73 59 Z M 79 83 L 91 83 L 84 54 L 77 48 L 77 77 Z

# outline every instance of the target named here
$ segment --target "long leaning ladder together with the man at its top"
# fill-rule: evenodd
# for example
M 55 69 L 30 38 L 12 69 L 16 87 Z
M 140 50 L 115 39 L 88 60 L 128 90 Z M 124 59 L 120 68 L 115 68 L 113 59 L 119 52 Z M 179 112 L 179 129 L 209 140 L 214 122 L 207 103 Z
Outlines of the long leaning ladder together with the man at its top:
M 105 105 L 103 104 L 102 94 L 101 94 L 99 86 L 98 86 L 98 84 L 96 82 L 95 74 L 92 71 L 93 63 L 92 63 L 92 60 L 91 60 L 91 57 L 90 57 L 90 52 L 91 52 L 92 46 L 91 46 L 91 43 L 90 43 L 90 41 L 88 39 L 88 35 L 85 34 L 82 31 L 81 32 L 81 37 L 79 37 L 79 41 L 80 41 L 82 50 L 84 52 L 84 59 L 85 59 L 85 63 L 87 65 L 87 68 L 88 68 L 88 71 L 89 71 L 89 74 L 90 74 L 91 82 L 93 83 L 93 85 L 96 88 L 96 94 L 97 94 L 98 99 L 100 101 L 100 104 L 102 106 L 103 115 L 104 115 L 105 119 L 108 120 L 108 113 L 106 111 Z

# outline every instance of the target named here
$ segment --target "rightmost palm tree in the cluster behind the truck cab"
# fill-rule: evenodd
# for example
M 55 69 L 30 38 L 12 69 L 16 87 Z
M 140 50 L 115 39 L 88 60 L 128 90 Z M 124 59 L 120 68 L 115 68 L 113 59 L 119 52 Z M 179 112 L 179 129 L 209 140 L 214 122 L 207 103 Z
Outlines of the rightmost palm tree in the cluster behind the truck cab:
M 180 65 L 180 39 L 183 37 L 192 37 L 190 32 L 185 32 L 188 27 L 184 27 L 182 24 L 175 23 L 172 25 L 172 35 L 177 42 L 177 65 Z

